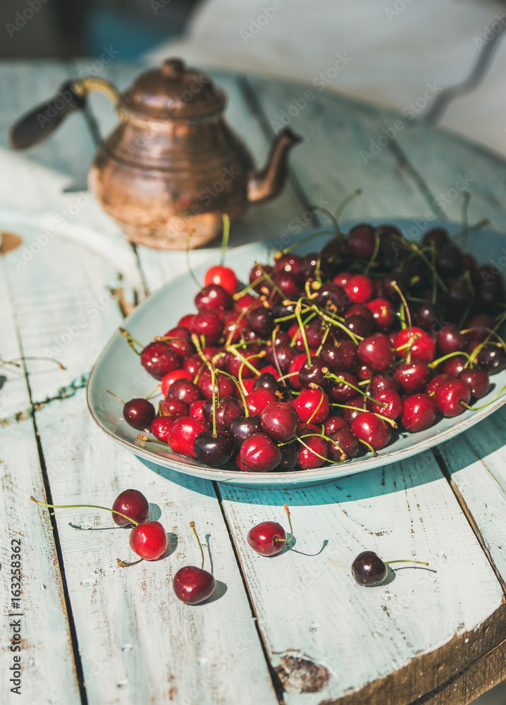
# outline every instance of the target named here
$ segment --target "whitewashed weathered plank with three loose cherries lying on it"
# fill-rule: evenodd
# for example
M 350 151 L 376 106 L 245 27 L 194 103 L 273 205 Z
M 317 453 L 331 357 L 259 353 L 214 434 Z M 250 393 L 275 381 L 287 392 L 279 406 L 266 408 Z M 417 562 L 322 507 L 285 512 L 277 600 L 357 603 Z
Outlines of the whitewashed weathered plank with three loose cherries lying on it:
M 211 483 L 148 467 L 112 443 L 92 422 L 84 390 L 36 416 L 55 503 L 110 506 L 135 487 L 171 532 L 171 556 L 118 568 L 116 558 L 135 558 L 128 529 L 76 531 L 68 522 L 92 529 L 113 523 L 99 510 L 56 510 L 90 705 L 229 705 L 238 693 L 245 704 L 277 705 Z M 199 565 L 190 520 L 219 581 L 217 599 L 193 607 L 171 586 L 179 568 Z

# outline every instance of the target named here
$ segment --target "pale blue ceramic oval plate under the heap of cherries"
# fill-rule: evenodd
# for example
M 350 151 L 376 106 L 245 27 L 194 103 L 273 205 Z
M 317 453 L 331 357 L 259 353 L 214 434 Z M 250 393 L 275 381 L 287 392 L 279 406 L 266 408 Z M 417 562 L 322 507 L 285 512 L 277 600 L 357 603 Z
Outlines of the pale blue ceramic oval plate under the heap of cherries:
M 421 234 L 416 221 L 396 220 L 392 222 L 412 239 L 416 239 Z M 346 228 L 352 224 L 348 223 Z M 379 221 L 374 221 L 374 224 L 379 224 Z M 431 223 L 431 226 L 436 225 L 437 223 Z M 448 223 L 443 223 L 443 225 L 448 228 L 450 233 L 457 233 L 461 229 L 458 225 L 448 225 Z M 302 235 L 297 235 L 297 240 L 301 238 Z M 298 247 L 297 252 L 304 254 L 320 250 L 329 238 L 329 235 L 315 234 L 314 239 Z M 479 233 L 469 235 L 467 250 L 472 252 L 481 263 L 497 263 L 504 260 L 505 248 L 506 238 L 499 233 L 482 230 Z M 246 279 L 254 260 L 268 262 L 270 254 L 271 250 L 269 250 L 267 243 L 252 243 L 230 250 L 227 253 L 226 264 L 235 270 L 237 276 Z M 209 264 L 204 264 L 195 270 L 199 281 L 203 281 L 208 266 Z M 161 335 L 164 331 L 175 326 L 183 314 L 195 311 L 193 299 L 196 293 L 197 287 L 189 275 L 186 274 L 172 281 L 149 296 L 130 314 L 125 320 L 125 329 L 128 329 L 137 340 L 148 343 L 154 336 Z M 506 384 L 506 371 L 495 374 L 490 379 L 493 383 L 492 389 L 488 396 L 480 400 L 480 405 L 493 399 Z M 154 379 L 144 372 L 139 357 L 130 350 L 121 333 L 115 333 L 95 364 L 88 381 L 87 401 L 92 417 L 99 427 L 108 436 L 111 436 L 111 439 L 126 446 L 140 458 L 197 477 L 230 484 L 265 487 L 304 486 L 326 482 L 336 477 L 363 472 L 371 467 L 387 465 L 390 462 L 409 458 L 410 455 L 421 453 L 422 450 L 432 448 L 432 446 L 448 441 L 453 436 L 466 431 L 506 401 L 506 392 L 504 392 L 490 405 L 479 411 L 469 410 L 454 419 L 440 419 L 430 429 L 420 431 L 417 434 L 401 431 L 397 439 L 380 450 L 376 457 L 369 453 L 362 458 L 347 460 L 340 465 L 326 465 L 314 470 L 261 473 L 207 467 L 195 460 L 190 460 L 190 458 L 183 458 L 171 453 L 169 448 L 165 449 L 163 446 L 156 447 L 152 444 L 148 450 L 148 448 L 140 448 L 136 445 L 138 431 L 128 426 L 123 419 L 121 405 L 113 396 L 106 393 L 106 390 L 110 389 L 121 398 L 128 400 L 147 396 L 153 391 L 153 388 Z

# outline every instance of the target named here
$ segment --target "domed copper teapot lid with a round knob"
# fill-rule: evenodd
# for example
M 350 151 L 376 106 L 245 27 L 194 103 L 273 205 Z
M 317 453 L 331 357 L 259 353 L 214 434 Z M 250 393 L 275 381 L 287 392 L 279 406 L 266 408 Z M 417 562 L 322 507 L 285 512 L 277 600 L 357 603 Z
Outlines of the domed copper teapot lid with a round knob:
M 226 97 L 206 73 L 165 59 L 142 73 L 123 93 L 123 106 L 152 118 L 202 118 L 223 110 Z

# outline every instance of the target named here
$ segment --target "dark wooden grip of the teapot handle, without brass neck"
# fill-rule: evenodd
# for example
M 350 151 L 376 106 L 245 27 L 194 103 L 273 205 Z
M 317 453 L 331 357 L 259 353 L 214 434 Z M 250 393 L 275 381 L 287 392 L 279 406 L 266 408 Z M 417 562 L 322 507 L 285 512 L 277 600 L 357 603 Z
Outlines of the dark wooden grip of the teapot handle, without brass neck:
M 75 110 L 82 110 L 85 97 L 75 94 L 73 82 L 66 82 L 58 93 L 46 103 L 23 115 L 11 128 L 11 145 L 14 149 L 27 149 L 43 142 Z

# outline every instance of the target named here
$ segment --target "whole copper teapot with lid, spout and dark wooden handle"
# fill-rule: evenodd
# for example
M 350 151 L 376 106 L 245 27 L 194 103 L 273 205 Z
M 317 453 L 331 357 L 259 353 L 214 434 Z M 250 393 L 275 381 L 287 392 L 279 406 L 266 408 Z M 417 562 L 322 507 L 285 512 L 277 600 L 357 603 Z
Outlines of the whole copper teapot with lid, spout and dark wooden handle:
M 250 203 L 280 192 L 288 151 L 301 140 L 280 131 L 266 166 L 255 170 L 223 116 L 223 90 L 180 59 L 166 59 L 123 94 L 102 78 L 66 82 L 13 125 L 13 147 L 42 142 L 66 115 L 85 107 L 92 90 L 111 97 L 119 124 L 94 157 L 90 190 L 129 240 L 148 247 L 184 250 L 188 240 L 190 247 L 214 240 L 222 214 L 235 219 Z

